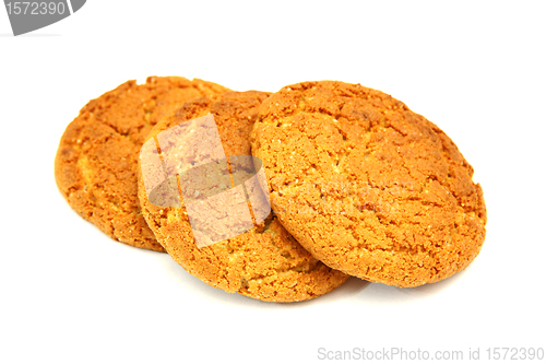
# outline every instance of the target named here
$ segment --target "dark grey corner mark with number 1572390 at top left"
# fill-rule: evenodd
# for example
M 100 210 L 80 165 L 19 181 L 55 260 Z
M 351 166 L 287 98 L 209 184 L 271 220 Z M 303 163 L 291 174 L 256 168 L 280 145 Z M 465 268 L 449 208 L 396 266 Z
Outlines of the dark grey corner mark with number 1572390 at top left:
M 69 2 L 70 1 L 70 2 Z M 86 0 L 4 0 L 13 35 L 29 33 L 57 23 L 80 10 Z

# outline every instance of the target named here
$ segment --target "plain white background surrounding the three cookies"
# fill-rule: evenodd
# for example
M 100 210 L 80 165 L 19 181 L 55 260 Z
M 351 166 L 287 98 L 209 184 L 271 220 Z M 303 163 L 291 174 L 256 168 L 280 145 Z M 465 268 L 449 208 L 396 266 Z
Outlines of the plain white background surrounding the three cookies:
M 325 350 L 546 347 L 544 2 L 105 1 L 13 37 L 0 8 L 1 363 L 312 363 Z M 352 279 L 314 301 L 227 294 L 115 243 L 57 190 L 85 103 L 147 75 L 276 91 L 341 80 L 442 128 L 488 210 L 480 255 L 436 284 Z

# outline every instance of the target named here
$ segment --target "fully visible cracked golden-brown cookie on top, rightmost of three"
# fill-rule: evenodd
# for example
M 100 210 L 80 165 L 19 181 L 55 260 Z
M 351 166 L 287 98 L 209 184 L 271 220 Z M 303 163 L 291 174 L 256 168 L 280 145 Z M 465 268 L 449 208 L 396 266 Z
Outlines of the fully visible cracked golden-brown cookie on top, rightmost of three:
M 464 269 L 485 238 L 473 168 L 436 125 L 391 96 L 322 81 L 283 87 L 251 143 L 283 226 L 329 267 L 417 286 Z

